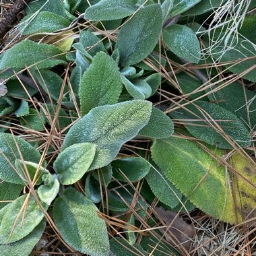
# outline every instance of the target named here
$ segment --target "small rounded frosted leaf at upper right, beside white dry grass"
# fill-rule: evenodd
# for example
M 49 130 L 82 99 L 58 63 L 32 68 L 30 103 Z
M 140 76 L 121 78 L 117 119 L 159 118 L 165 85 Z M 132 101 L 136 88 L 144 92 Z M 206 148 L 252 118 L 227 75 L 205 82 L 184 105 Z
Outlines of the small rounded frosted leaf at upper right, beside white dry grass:
M 201 49 L 197 36 L 187 26 L 174 24 L 163 32 L 164 43 L 177 56 L 192 63 L 199 63 Z

